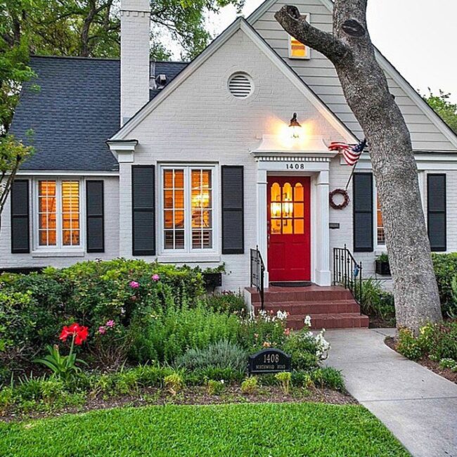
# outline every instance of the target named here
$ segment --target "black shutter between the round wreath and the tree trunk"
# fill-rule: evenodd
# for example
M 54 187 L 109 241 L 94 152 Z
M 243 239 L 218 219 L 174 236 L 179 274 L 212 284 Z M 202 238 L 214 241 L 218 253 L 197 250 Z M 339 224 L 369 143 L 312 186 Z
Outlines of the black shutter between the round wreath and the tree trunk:
M 373 252 L 373 174 L 354 173 L 354 252 Z

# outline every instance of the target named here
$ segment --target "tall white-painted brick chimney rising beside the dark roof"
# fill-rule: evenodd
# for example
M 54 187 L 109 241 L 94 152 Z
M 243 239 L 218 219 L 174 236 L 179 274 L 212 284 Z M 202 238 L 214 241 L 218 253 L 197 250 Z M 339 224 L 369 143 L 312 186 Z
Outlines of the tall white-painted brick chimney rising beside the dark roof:
M 121 125 L 149 101 L 149 0 L 121 1 Z

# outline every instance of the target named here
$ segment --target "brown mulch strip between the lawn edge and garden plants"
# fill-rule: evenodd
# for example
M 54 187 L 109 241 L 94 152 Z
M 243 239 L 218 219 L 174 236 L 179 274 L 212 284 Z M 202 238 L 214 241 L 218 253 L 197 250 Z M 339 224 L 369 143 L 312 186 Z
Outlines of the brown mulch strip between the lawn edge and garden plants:
M 240 387 L 227 387 L 223 394 L 210 395 L 205 387 L 188 387 L 176 395 L 169 394 L 167 390 L 150 388 L 136 392 L 134 395 L 124 395 L 111 399 L 103 399 L 102 396 L 89 399 L 84 406 L 63 408 L 59 411 L 15 414 L 0 417 L 0 421 L 12 422 L 24 419 L 37 419 L 45 417 L 63 416 L 68 413 L 84 413 L 96 409 L 119 408 L 122 406 L 150 406 L 150 405 L 209 405 L 229 403 L 311 403 L 328 404 L 357 404 L 356 399 L 347 393 L 337 392 L 330 389 L 314 389 L 305 391 L 293 389 L 285 395 L 278 387 L 260 387 L 255 394 L 242 394 Z

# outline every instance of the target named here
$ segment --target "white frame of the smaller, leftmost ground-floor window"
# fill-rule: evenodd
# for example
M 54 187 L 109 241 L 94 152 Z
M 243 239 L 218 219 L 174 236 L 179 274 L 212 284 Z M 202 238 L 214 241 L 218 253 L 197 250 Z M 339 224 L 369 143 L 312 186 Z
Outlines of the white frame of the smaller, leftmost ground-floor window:
M 39 244 L 39 181 L 56 181 L 56 240 L 55 246 Z M 62 243 L 62 182 L 77 181 L 79 183 L 79 245 L 64 246 Z M 33 250 L 34 252 L 84 252 L 86 245 L 86 201 L 84 198 L 84 179 L 76 176 L 56 177 L 39 176 L 33 181 Z

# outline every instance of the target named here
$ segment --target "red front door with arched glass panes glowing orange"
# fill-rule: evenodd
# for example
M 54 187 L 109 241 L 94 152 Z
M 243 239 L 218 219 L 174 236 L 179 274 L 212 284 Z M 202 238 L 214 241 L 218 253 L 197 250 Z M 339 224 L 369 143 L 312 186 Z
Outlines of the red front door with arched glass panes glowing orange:
M 311 280 L 309 195 L 309 177 L 268 178 L 270 281 Z

